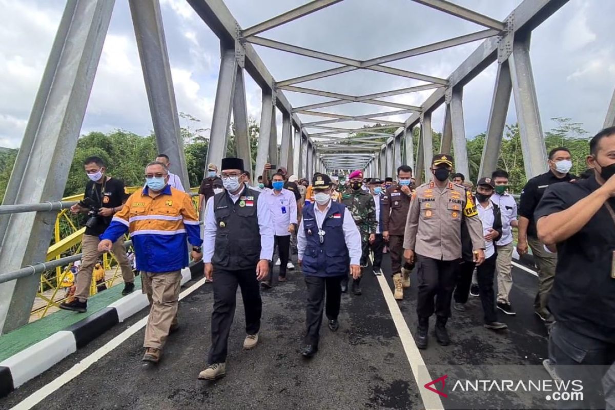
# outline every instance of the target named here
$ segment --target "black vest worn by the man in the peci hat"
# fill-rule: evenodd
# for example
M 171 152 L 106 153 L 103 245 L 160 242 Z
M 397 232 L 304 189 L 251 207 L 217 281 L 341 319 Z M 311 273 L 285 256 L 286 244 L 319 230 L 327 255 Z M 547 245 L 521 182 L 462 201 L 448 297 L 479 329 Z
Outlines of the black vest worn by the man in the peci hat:
M 224 190 L 213 197 L 216 243 L 212 264 L 226 270 L 256 269 L 261 254 L 261 234 L 256 206 L 258 192 L 247 187 L 233 203 Z

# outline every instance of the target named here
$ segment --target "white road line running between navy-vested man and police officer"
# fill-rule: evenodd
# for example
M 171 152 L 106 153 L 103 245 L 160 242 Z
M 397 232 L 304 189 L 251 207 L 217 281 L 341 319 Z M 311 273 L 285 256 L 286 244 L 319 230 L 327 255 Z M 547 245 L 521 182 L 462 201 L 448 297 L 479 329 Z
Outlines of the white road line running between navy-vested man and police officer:
M 373 258 L 371 258 L 371 255 L 370 259 L 373 264 Z M 415 377 L 416 385 L 418 386 L 419 393 L 421 393 L 423 406 L 425 406 L 426 410 L 443 410 L 444 406 L 442 405 L 440 396 L 438 396 L 437 393 L 430 392 L 424 388 L 424 385 L 431 382 L 433 379 L 429 375 L 429 370 L 425 365 L 421 352 L 419 352 L 419 348 L 416 347 L 415 338 L 412 336 L 410 328 L 408 328 L 408 324 L 403 318 L 402 311 L 399 309 L 397 301 L 393 298 L 393 293 L 391 288 L 389 288 L 389 283 L 387 283 L 386 277 L 381 275 L 376 278 L 378 278 L 380 289 L 383 291 L 384 301 L 386 301 L 386 304 L 389 307 L 389 312 L 391 312 L 393 323 L 395 323 L 395 328 L 397 328 L 397 333 L 402 341 L 403 351 L 406 353 L 408 363 L 410 363 L 410 369 L 412 369 L 412 374 Z

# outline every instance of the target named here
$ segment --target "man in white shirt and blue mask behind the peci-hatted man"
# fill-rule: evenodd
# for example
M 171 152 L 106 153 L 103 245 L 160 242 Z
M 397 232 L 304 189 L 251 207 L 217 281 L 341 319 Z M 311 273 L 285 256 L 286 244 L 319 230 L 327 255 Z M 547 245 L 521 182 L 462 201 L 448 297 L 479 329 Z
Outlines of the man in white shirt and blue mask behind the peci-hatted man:
M 290 235 L 295 232 L 297 227 L 297 202 L 295 194 L 284 188 L 284 175 L 275 173 L 272 178 L 272 187 L 264 188 L 261 198 L 267 203 L 271 211 L 271 220 L 274 229 L 274 249 L 280 258 L 280 273 L 278 282 L 286 282 L 286 269 L 288 266 L 288 254 L 290 253 Z M 275 258 L 271 259 L 272 261 Z M 269 266 L 271 275 L 267 280 L 261 282 L 264 288 L 271 288 L 273 282 L 273 266 Z

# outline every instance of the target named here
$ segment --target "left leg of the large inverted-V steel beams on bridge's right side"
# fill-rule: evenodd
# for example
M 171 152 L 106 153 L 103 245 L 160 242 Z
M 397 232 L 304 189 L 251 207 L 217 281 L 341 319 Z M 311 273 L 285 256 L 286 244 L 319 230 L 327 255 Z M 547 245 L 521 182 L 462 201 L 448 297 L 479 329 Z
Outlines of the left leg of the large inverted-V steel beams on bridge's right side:
M 510 104 L 510 93 L 512 93 L 512 82 L 510 80 L 509 63 L 506 60 L 498 65 L 496 84 L 493 89 L 493 98 L 491 99 L 485 146 L 483 146 L 480 170 L 478 171 L 479 179 L 484 176 L 490 177 L 491 173 L 498 168 L 498 157 L 502 146 L 504 127 L 506 127 L 506 114 Z

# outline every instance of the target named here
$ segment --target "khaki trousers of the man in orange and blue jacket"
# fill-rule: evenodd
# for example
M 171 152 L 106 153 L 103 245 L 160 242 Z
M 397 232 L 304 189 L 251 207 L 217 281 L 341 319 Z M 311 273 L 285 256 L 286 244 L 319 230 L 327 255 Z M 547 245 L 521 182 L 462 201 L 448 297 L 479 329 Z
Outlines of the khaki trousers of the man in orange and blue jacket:
M 181 271 L 141 272 L 141 292 L 149 299 L 148 325 L 143 347 L 162 349 L 171 325 L 177 324 Z

